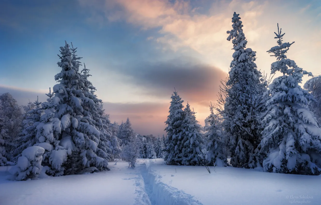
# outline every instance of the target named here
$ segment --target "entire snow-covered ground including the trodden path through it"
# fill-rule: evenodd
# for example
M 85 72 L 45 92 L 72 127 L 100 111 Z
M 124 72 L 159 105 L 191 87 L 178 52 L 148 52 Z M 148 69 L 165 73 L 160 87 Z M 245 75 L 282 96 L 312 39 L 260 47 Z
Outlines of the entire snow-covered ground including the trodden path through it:
M 124 161 L 94 174 L 12 182 L 0 167 L 1 205 L 285 205 L 321 204 L 321 176 L 265 173 L 234 167 L 169 166 L 163 159 Z

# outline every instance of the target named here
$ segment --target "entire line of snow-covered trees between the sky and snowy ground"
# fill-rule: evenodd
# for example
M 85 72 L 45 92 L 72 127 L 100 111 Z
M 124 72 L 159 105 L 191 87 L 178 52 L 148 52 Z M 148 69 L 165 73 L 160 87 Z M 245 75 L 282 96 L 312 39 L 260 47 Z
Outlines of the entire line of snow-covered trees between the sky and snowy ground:
M 319 175 L 321 77 L 287 58 L 295 44 L 283 40 L 277 22 L 276 44 L 267 50 L 276 59 L 271 57 L 271 76 L 262 74 L 256 52 L 246 47 L 250 39 L 240 19 L 234 12 L 227 31 L 234 49 L 230 71 L 221 80 L 218 101 L 209 102 L 205 126 L 174 88 L 166 136 L 139 135 L 129 118 L 111 122 L 95 94 L 90 69 L 82 65 L 77 48 L 65 42 L 57 84 L 49 88 L 46 102 L 34 99 L 21 106 L 9 93 L 0 96 L 0 166 L 13 166 L 14 181 L 108 171 L 108 162 L 116 159 L 134 168 L 138 158 Z M 301 87 L 304 75 L 312 78 Z

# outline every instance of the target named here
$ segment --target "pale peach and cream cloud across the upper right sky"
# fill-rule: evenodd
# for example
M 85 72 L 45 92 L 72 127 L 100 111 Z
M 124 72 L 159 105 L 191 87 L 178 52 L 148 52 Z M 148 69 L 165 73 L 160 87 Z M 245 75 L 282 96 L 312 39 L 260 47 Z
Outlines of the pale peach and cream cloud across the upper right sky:
M 282 26 L 283 31 L 289 33 L 284 40 L 293 39 L 298 42 L 297 46 L 291 49 L 293 54 L 291 58 L 301 60 L 302 62 L 299 61 L 301 67 L 313 67 L 313 64 L 306 62 L 305 59 L 317 58 L 317 45 L 320 44 L 318 40 L 321 31 L 320 19 L 311 21 L 313 14 L 307 13 L 310 6 L 301 9 L 299 1 L 291 1 L 291 4 L 290 1 L 215 1 L 206 13 L 200 13 L 199 9 L 192 7 L 189 1 L 181 0 L 116 0 L 112 3 L 80 0 L 80 2 L 93 11 L 99 10 L 100 15 L 103 13 L 104 21 L 126 21 L 145 30 L 158 28 L 161 36 L 154 38 L 156 42 L 173 50 L 188 46 L 202 54 L 202 60 L 225 72 L 229 69 L 232 54 L 229 49 L 232 47 L 231 43 L 226 40 L 226 31 L 231 29 L 231 17 L 234 11 L 241 14 L 248 47 L 257 51 L 257 65 L 265 73 L 270 73 L 270 65 L 274 60 L 265 51 L 275 44 L 273 32 L 276 23 Z M 284 6 L 288 9 L 284 10 Z M 317 15 L 316 10 L 314 13 Z M 307 42 L 305 31 L 311 31 L 309 39 L 317 42 Z M 312 56 L 299 54 L 307 44 Z

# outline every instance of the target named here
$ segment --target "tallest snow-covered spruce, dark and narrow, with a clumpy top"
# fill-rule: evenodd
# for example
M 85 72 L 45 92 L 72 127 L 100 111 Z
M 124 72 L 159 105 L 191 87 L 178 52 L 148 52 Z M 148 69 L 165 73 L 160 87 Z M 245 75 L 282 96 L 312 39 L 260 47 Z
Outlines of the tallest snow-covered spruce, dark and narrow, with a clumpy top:
M 234 12 L 231 31 L 227 31 L 233 43 L 233 60 L 228 78 L 221 82 L 219 106 L 227 147 L 234 167 L 253 168 L 260 164 L 257 145 L 261 140 L 260 118 L 266 98 L 266 77 L 256 69 L 256 52 L 246 49 L 239 14 Z

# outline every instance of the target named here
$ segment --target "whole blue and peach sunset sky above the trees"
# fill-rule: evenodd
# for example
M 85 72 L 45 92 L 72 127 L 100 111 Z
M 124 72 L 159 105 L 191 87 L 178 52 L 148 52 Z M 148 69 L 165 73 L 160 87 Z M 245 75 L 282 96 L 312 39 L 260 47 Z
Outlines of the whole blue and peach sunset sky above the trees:
M 230 68 L 234 12 L 261 72 L 269 76 L 276 61 L 266 51 L 277 45 L 279 23 L 284 42 L 295 41 L 288 58 L 321 74 L 318 0 L 1 0 L 0 94 L 19 104 L 45 101 L 66 40 L 90 69 L 111 121 L 129 117 L 139 134 L 165 134 L 175 87 L 204 125 Z

